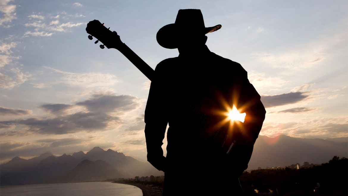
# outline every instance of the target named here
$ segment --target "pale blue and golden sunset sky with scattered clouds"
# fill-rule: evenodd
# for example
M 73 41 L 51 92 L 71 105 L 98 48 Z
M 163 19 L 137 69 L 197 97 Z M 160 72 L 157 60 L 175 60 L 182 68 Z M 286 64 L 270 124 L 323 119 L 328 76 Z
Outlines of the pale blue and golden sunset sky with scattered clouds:
M 100 49 L 85 28 L 94 19 L 105 23 L 155 68 L 179 55 L 159 46 L 157 31 L 189 8 L 201 9 L 206 27 L 222 25 L 207 34 L 207 46 L 248 72 L 267 111 L 261 135 L 348 136 L 346 0 L 1 0 L 0 6 L 1 163 L 95 146 L 146 160 L 150 81 L 116 49 Z M 166 145 L 165 138 L 164 153 Z

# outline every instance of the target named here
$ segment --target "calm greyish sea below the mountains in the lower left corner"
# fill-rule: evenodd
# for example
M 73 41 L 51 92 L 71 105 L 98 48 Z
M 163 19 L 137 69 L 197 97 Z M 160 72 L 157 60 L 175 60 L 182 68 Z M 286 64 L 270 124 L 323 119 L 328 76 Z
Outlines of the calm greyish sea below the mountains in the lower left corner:
M 1 186 L 1 196 L 142 196 L 132 185 L 112 182 L 78 182 Z

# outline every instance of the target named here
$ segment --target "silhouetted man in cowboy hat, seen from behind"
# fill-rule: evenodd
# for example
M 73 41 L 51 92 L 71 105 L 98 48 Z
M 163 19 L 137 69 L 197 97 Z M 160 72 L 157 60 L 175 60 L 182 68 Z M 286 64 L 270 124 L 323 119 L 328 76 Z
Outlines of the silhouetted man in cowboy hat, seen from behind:
M 157 33 L 162 47 L 177 48 L 180 53 L 157 65 L 145 109 L 147 157 L 165 172 L 164 195 L 242 194 L 238 177 L 247 168 L 266 111 L 243 67 L 210 52 L 205 45 L 205 34 L 220 28 L 205 27 L 200 10 L 184 9 L 179 10 L 174 24 Z M 200 130 L 179 107 L 180 100 L 173 92 L 216 123 L 226 118 L 227 105 L 246 113 L 229 161 L 201 141 Z M 164 157 L 161 145 L 168 123 Z

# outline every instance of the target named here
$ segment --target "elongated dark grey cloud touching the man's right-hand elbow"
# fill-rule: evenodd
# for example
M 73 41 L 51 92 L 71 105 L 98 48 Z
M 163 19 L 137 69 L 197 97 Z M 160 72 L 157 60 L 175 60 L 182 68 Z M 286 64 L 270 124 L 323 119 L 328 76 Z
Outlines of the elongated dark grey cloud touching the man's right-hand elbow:
M 261 101 L 264 107 L 275 107 L 286 104 L 294 104 L 306 99 L 308 95 L 303 95 L 303 92 L 288 92 L 281 95 L 261 96 Z

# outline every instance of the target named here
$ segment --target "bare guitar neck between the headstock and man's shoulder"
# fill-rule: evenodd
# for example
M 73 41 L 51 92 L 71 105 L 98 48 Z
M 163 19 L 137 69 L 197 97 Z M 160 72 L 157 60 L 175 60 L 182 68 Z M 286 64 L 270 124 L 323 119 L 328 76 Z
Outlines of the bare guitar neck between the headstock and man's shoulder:
M 118 50 L 132 62 L 149 80 L 155 77 L 155 71 L 143 61 L 133 50 L 131 50 L 125 43 L 118 48 Z

